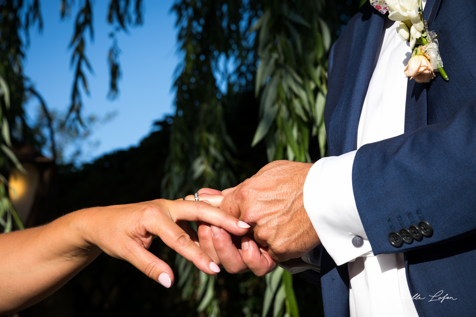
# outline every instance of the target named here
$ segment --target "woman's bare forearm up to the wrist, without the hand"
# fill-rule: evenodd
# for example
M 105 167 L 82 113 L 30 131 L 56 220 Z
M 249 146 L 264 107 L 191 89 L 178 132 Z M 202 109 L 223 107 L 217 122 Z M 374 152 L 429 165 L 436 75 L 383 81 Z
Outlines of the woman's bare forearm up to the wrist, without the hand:
M 41 227 L 0 234 L 0 313 L 29 307 L 63 286 L 101 250 L 83 239 L 85 210 Z

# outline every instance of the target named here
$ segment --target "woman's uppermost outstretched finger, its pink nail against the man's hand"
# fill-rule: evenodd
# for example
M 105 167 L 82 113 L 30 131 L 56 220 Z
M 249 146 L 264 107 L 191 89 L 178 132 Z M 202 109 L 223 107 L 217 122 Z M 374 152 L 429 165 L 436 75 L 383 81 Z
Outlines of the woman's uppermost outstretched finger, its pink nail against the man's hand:
M 167 202 L 173 221 L 205 221 L 226 231 L 241 236 L 248 232 L 248 223 L 240 221 L 225 211 L 206 202 L 164 201 Z

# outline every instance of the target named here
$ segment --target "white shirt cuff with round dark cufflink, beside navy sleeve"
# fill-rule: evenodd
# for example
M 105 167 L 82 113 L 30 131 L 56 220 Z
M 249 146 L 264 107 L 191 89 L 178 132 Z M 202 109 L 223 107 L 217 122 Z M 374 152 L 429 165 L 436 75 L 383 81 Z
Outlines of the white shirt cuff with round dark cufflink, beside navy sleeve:
M 352 188 L 352 165 L 357 151 L 321 158 L 304 183 L 304 208 L 329 255 L 337 265 L 372 254 L 360 221 Z M 354 247 L 360 236 L 364 244 Z

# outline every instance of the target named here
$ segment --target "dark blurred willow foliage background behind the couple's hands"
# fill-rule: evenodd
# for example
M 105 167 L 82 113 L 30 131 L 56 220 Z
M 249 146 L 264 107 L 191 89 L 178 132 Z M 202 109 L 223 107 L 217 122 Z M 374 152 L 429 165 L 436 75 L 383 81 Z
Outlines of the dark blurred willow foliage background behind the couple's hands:
M 175 113 L 157 122 L 138 147 L 80 168 L 61 165 L 57 200 L 38 224 L 90 206 L 175 199 L 202 187 L 224 189 L 269 161 L 324 156 L 327 52 L 359 2 L 176 0 L 171 10 L 177 16 L 182 63 L 174 82 Z M 60 16 L 69 16 L 75 5 L 69 43 L 73 85 L 69 110 L 61 115 L 50 113 L 22 71 L 29 29 L 42 26 L 40 0 L 0 0 L 0 75 L 5 82 L 0 103 L 7 118 L 2 131 L 38 149 L 49 147 L 58 161 L 58 137 L 80 137 L 81 129 L 88 131 L 88 120 L 81 116 L 81 93 L 89 92 L 86 45 L 94 36 L 94 7 L 90 0 L 60 0 Z M 109 0 L 108 8 L 107 19 L 114 26 L 107 56 L 108 96 L 113 99 L 121 77 L 116 34 L 144 21 L 141 0 Z M 23 110 L 30 97 L 38 99 L 43 112 L 33 129 Z M 8 145 L 7 138 L 3 133 L 1 142 Z M 14 158 L 4 151 L 2 173 L 7 175 L 12 163 Z M 0 188 L 0 204 L 6 202 Z M 249 272 L 208 277 L 159 240 L 150 250 L 170 265 L 177 264 L 177 285 L 171 289 L 103 254 L 50 298 L 20 315 L 323 316 L 320 291 L 301 274 L 277 269 L 266 279 Z

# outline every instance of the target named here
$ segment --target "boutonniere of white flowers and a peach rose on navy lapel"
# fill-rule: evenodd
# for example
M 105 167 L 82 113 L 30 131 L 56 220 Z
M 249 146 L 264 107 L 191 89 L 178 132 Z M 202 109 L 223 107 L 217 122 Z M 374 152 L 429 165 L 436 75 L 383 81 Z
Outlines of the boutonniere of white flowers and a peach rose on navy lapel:
M 400 21 L 398 36 L 408 41 L 412 49 L 405 75 L 417 83 L 428 83 L 435 77 L 435 71 L 439 71 L 448 80 L 438 49 L 438 35 L 429 31 L 423 20 L 421 0 L 370 0 L 370 3 L 383 14 L 388 10 L 388 19 Z

